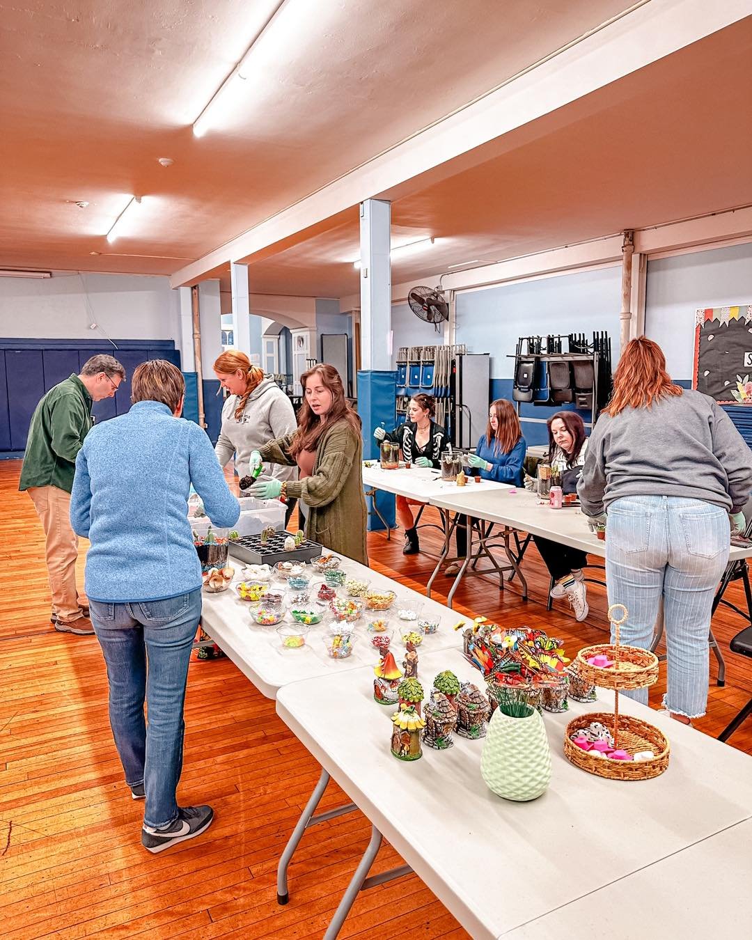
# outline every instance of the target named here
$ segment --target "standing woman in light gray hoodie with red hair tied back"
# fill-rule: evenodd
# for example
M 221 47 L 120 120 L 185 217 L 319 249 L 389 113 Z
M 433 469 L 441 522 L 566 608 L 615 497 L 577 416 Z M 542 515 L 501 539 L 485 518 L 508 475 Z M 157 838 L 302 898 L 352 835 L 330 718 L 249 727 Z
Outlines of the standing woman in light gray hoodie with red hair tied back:
M 235 467 L 241 478 L 248 469 L 253 450 L 269 441 L 292 434 L 298 427 L 290 399 L 271 375 L 251 365 L 244 352 L 227 350 L 214 363 L 219 384 L 230 393 L 222 409 L 222 429 L 214 452 L 221 466 L 235 455 Z M 265 463 L 263 474 L 275 479 L 295 479 L 294 467 Z M 288 504 L 287 519 L 294 502 Z

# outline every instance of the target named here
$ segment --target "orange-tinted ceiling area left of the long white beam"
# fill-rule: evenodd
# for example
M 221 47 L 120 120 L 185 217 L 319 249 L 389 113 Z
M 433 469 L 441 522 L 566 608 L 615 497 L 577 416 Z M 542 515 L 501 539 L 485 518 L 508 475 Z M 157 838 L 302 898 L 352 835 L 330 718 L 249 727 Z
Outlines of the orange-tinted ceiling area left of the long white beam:
M 3 8 L 0 266 L 171 274 L 630 3 L 288 0 L 254 47 L 225 125 L 195 138 L 192 121 L 275 6 Z M 159 157 L 175 163 L 164 169 Z M 110 246 L 104 234 L 131 194 L 144 196 L 137 230 Z M 411 196 L 395 207 L 398 226 L 462 226 L 432 195 Z M 76 208 L 79 199 L 89 206 Z M 346 229 L 338 238 L 352 256 Z M 478 250 L 488 235 L 488 224 L 473 232 Z M 321 281 L 304 270 L 292 283 L 293 256 L 259 277 L 281 292 L 351 292 L 352 278 L 329 270 L 334 247 L 337 236 L 306 249 L 323 262 Z

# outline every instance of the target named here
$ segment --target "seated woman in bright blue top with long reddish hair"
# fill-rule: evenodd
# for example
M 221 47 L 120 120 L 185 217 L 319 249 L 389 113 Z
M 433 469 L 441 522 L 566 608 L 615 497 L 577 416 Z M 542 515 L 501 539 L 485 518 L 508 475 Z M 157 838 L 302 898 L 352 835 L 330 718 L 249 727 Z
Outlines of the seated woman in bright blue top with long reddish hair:
M 488 427 L 478 440 L 475 454 L 467 462 L 480 471 L 483 479 L 496 483 L 522 486 L 525 477 L 525 454 L 527 445 L 520 427 L 520 419 L 514 405 L 507 399 L 496 399 L 488 410 Z M 457 521 L 457 555 L 467 555 L 467 517 Z M 462 561 L 455 561 L 446 569 L 447 574 L 460 571 Z

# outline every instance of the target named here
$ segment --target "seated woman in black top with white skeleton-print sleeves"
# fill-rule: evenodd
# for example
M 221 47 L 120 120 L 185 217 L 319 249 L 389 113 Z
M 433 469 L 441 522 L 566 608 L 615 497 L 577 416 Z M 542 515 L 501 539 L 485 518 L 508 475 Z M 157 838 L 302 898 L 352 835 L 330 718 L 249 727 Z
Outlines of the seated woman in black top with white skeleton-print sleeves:
M 400 424 L 399 428 L 387 432 L 384 428 L 377 428 L 373 436 L 377 441 L 392 441 L 399 444 L 405 461 L 412 461 L 419 467 L 440 467 L 441 453 L 446 450 L 448 439 L 444 428 L 431 420 L 435 409 L 435 402 L 431 395 L 422 392 L 410 399 L 407 409 L 408 420 Z M 416 555 L 420 551 L 417 539 L 415 518 L 411 506 L 423 506 L 417 499 L 407 499 L 397 496 L 397 518 L 405 530 L 405 547 L 402 555 Z

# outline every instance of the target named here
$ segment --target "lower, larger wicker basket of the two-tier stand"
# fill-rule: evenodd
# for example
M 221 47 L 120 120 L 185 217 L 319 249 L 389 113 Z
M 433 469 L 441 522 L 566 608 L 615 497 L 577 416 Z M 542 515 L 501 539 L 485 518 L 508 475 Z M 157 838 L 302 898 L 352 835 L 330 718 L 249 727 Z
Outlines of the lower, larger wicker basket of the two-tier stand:
M 618 729 L 615 728 L 617 720 Z M 652 760 L 590 757 L 589 751 L 572 744 L 572 734 L 586 729 L 593 721 L 601 722 L 614 735 L 615 744 L 618 744 L 621 750 L 628 754 L 652 751 L 655 757 Z M 611 780 L 650 780 L 654 776 L 660 776 L 668 766 L 668 753 L 668 741 L 663 732 L 653 728 L 647 721 L 627 714 L 617 716 L 609 712 L 588 712 L 578 715 L 567 725 L 564 737 L 564 756 L 567 760 L 588 774 L 605 776 Z

